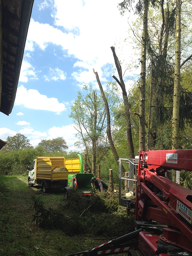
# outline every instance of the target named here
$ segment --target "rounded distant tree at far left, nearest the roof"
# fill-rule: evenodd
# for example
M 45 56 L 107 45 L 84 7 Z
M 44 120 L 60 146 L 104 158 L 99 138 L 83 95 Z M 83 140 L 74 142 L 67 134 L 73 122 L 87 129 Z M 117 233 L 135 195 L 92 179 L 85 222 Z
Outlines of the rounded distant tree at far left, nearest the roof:
M 7 144 L 2 148 L 1 151 L 11 151 L 32 147 L 27 137 L 21 133 L 17 133 L 12 137 L 8 136 L 6 142 Z

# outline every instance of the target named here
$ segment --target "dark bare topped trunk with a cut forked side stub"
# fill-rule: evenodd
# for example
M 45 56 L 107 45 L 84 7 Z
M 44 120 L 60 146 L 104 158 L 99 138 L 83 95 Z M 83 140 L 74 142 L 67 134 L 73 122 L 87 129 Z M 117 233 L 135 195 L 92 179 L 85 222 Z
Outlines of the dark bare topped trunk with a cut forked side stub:
M 129 145 L 129 154 L 130 154 L 130 158 L 135 158 L 134 147 L 133 147 L 133 140 L 132 140 L 132 130 L 131 130 L 129 103 L 128 103 L 128 98 L 127 98 L 127 92 L 126 92 L 126 89 L 125 89 L 125 84 L 124 84 L 124 81 L 123 81 L 121 64 L 120 64 L 120 62 L 119 62 L 119 60 L 118 60 L 118 58 L 116 56 L 115 47 L 111 46 L 111 50 L 113 52 L 113 57 L 114 57 L 114 60 L 115 60 L 115 65 L 116 65 L 116 68 L 117 68 L 117 72 L 118 72 L 120 81 L 116 78 L 116 76 L 112 76 L 112 77 L 120 85 L 120 87 L 122 89 L 122 94 L 123 94 L 125 117 L 126 117 L 126 125 L 127 125 L 127 140 L 128 140 L 128 145 Z

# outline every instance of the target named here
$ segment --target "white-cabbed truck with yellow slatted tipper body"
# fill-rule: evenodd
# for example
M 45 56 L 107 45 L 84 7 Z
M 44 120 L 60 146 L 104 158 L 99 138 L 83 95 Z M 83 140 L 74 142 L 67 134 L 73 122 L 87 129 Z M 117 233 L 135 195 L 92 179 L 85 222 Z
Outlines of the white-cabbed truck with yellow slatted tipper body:
M 65 188 L 68 175 L 80 172 L 79 158 L 65 159 L 63 156 L 37 156 L 31 167 L 27 167 L 28 186 L 41 186 L 46 193 L 50 188 Z

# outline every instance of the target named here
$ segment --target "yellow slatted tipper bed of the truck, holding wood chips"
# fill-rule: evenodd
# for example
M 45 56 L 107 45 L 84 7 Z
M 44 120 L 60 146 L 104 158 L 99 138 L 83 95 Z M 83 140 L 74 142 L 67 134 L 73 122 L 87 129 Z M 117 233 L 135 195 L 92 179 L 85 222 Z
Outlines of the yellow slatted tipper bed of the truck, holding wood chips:
M 55 167 L 65 166 L 68 172 L 54 172 Z M 35 180 L 67 180 L 68 174 L 80 172 L 80 159 L 65 159 L 63 156 L 37 156 Z

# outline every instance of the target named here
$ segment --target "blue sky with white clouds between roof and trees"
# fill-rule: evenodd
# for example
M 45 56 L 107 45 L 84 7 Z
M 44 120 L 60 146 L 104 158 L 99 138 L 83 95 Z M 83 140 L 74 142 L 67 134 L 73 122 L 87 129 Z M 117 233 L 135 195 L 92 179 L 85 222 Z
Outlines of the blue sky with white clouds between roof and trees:
M 35 0 L 12 113 L 0 112 L 0 138 L 20 132 L 32 146 L 63 137 L 75 150 L 76 130 L 68 117 L 84 84 L 98 88 L 94 68 L 105 87 L 113 81 L 111 46 L 119 60 L 132 61 L 129 13 L 121 17 L 118 0 Z M 123 62 L 123 61 L 122 61 Z M 127 78 L 139 70 L 127 70 Z

